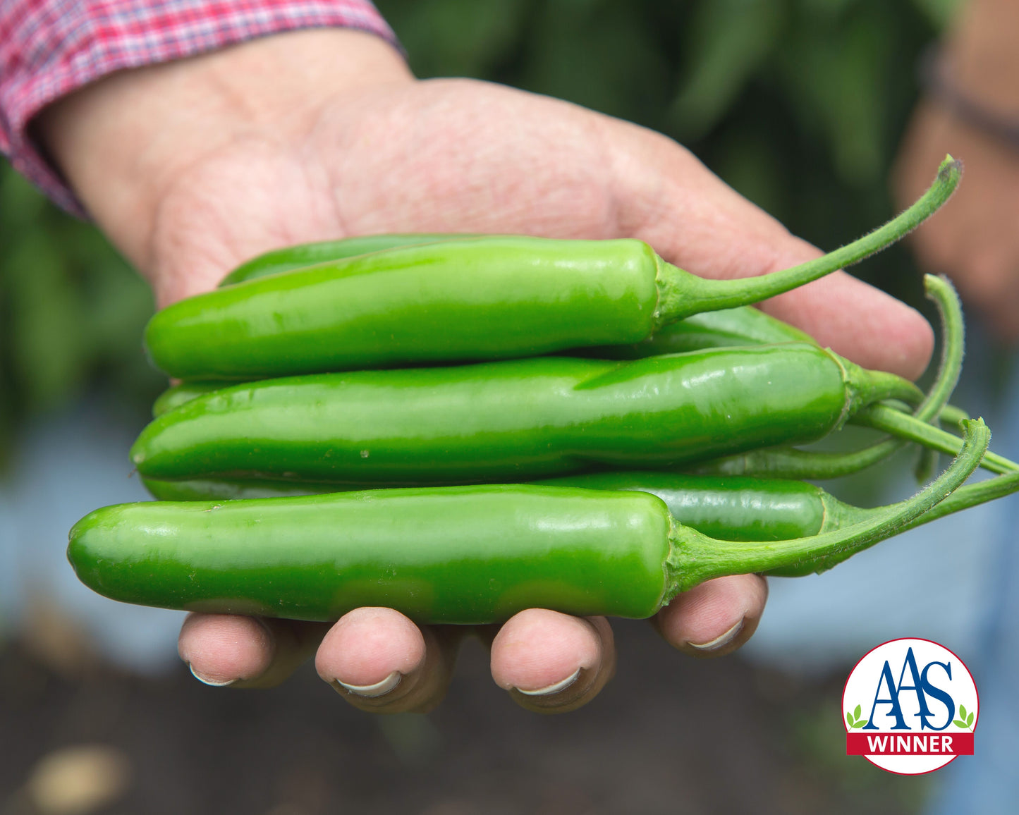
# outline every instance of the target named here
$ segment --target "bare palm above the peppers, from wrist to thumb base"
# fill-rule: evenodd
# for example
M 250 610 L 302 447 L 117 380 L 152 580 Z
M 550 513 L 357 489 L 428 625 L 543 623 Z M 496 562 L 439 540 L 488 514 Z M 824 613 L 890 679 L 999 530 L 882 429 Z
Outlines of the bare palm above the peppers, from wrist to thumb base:
M 717 277 L 805 250 L 675 143 L 555 100 L 398 84 L 334 98 L 303 122 L 240 134 L 174 179 L 148 264 L 162 304 L 266 250 L 350 234 L 637 236 Z

